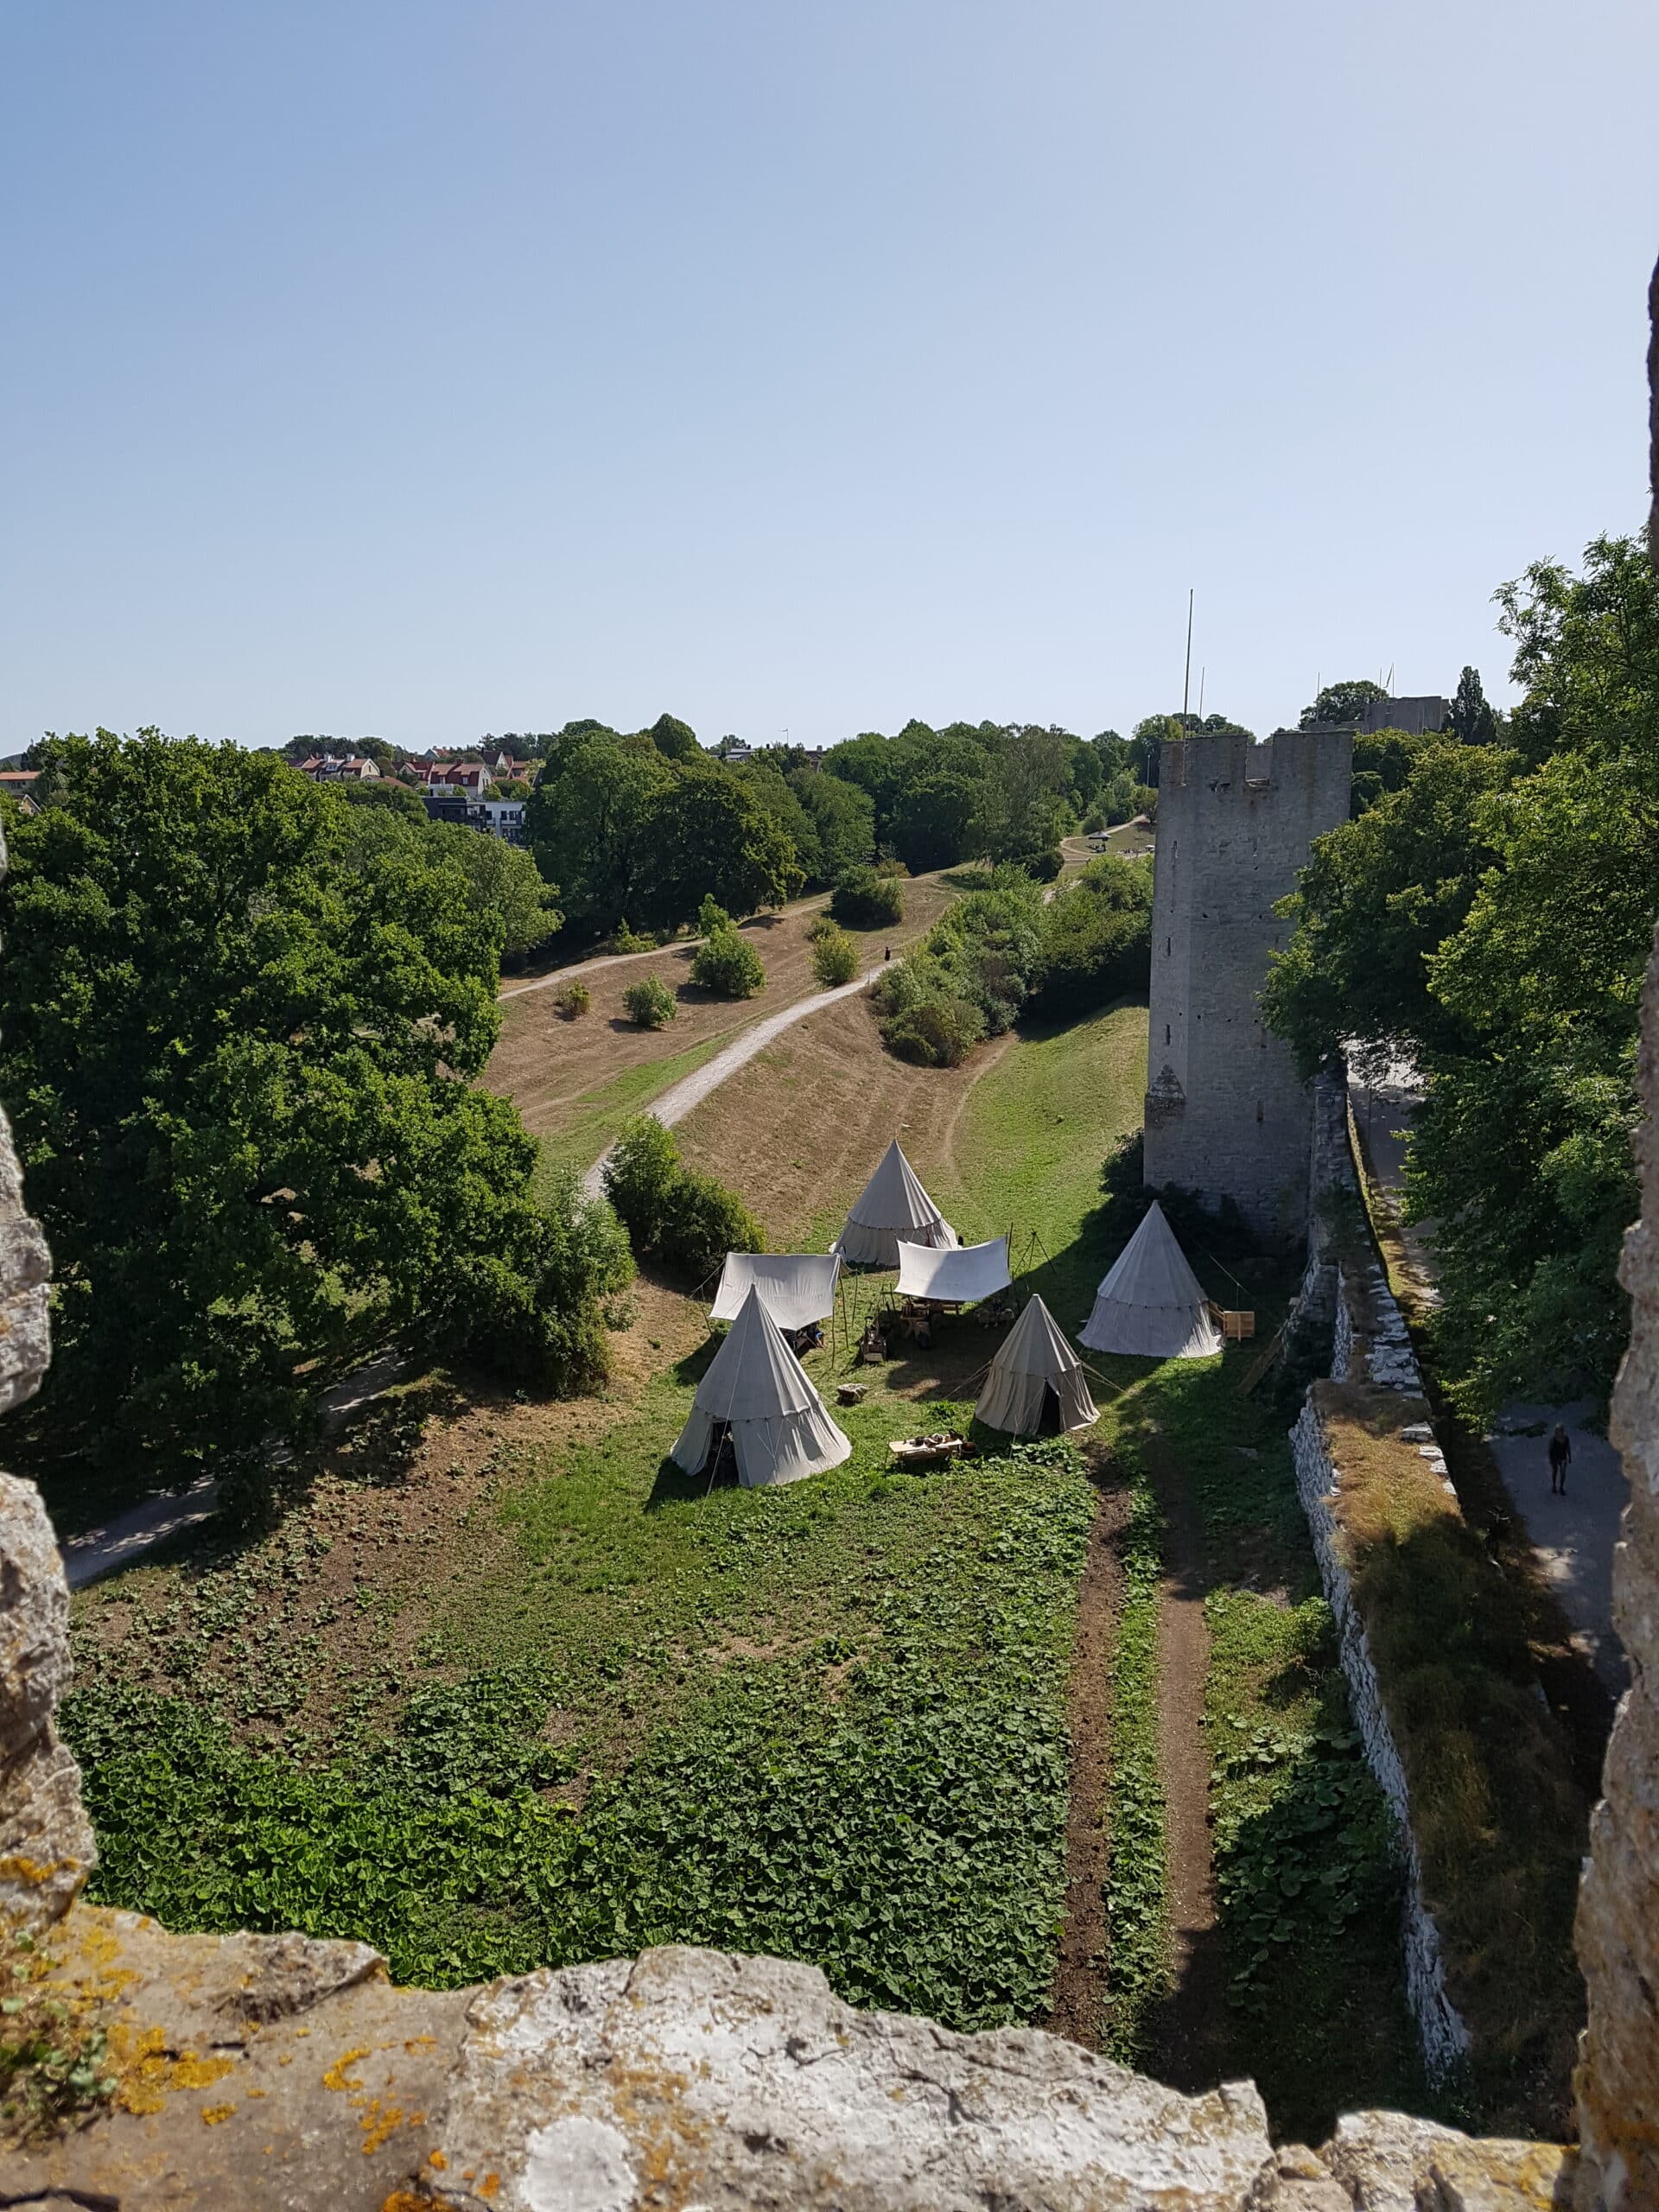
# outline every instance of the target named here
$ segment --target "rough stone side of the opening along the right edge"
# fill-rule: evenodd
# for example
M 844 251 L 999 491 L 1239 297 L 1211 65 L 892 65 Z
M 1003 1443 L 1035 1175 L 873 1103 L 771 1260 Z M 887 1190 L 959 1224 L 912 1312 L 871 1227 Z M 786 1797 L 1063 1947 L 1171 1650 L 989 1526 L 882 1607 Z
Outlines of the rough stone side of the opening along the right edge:
M 1641 1095 L 1641 1221 L 1626 1237 L 1621 1270 L 1630 1349 L 1613 1398 L 1613 1440 L 1630 1478 L 1613 1555 L 1613 1624 L 1630 1688 L 1590 1816 L 1577 1916 L 1590 2000 L 1575 2084 L 1579 2203 L 1608 2212 L 1659 2205 L 1659 958 L 1644 1002 Z

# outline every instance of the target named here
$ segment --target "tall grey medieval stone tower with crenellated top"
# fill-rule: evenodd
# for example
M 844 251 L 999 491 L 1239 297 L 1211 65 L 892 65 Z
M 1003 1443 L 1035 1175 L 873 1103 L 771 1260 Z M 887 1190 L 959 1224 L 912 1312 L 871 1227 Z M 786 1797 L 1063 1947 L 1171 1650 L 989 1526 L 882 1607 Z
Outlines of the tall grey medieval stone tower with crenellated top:
M 1272 909 L 1347 821 L 1349 730 L 1164 748 L 1152 887 L 1146 1181 L 1232 1199 L 1261 1237 L 1307 1225 L 1312 1097 L 1256 991 L 1290 938 Z

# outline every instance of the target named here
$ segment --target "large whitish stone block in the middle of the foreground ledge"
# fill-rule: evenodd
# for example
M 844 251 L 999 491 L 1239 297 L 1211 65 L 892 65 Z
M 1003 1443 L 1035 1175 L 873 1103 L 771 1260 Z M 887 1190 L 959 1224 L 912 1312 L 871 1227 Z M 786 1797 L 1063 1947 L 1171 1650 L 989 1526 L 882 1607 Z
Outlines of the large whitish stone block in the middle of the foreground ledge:
M 482 1991 L 438 2132 L 422 2185 L 467 2212 L 1221 2212 L 1274 2166 L 1250 2084 L 1181 2097 L 1055 2035 L 856 2013 L 816 1966 L 688 1949 Z

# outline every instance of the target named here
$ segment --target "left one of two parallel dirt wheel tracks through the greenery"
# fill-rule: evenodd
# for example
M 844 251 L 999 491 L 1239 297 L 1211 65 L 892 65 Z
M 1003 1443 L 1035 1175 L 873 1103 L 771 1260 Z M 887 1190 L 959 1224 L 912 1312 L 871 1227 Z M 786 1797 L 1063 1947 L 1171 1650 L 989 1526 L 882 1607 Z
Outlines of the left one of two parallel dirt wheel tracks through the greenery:
M 1066 1814 L 1066 1924 L 1060 1936 L 1048 2020 L 1044 2026 L 1099 2051 L 1106 2006 L 1106 1783 L 1113 1750 L 1110 1668 L 1124 1571 L 1117 1540 L 1128 1520 L 1128 1493 L 1113 1482 L 1104 1451 L 1088 1453 L 1099 1489 L 1088 1557 L 1077 1590 L 1077 1641 L 1071 1650 L 1071 1812 Z

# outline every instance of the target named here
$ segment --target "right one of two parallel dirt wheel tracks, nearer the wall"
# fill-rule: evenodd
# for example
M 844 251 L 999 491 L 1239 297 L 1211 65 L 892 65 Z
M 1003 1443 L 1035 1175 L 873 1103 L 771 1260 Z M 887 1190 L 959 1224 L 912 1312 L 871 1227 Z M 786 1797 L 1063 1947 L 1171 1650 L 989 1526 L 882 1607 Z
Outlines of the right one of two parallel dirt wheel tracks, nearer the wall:
M 1152 2073 L 1172 2088 L 1201 2090 L 1221 2079 L 1225 2004 L 1210 1863 L 1210 1752 L 1203 1741 L 1203 1679 L 1210 1666 L 1203 1540 L 1183 1469 L 1157 1433 L 1146 1438 L 1146 1467 L 1166 1524 L 1157 1728 L 1172 1971 L 1170 1997 L 1152 2017 Z

